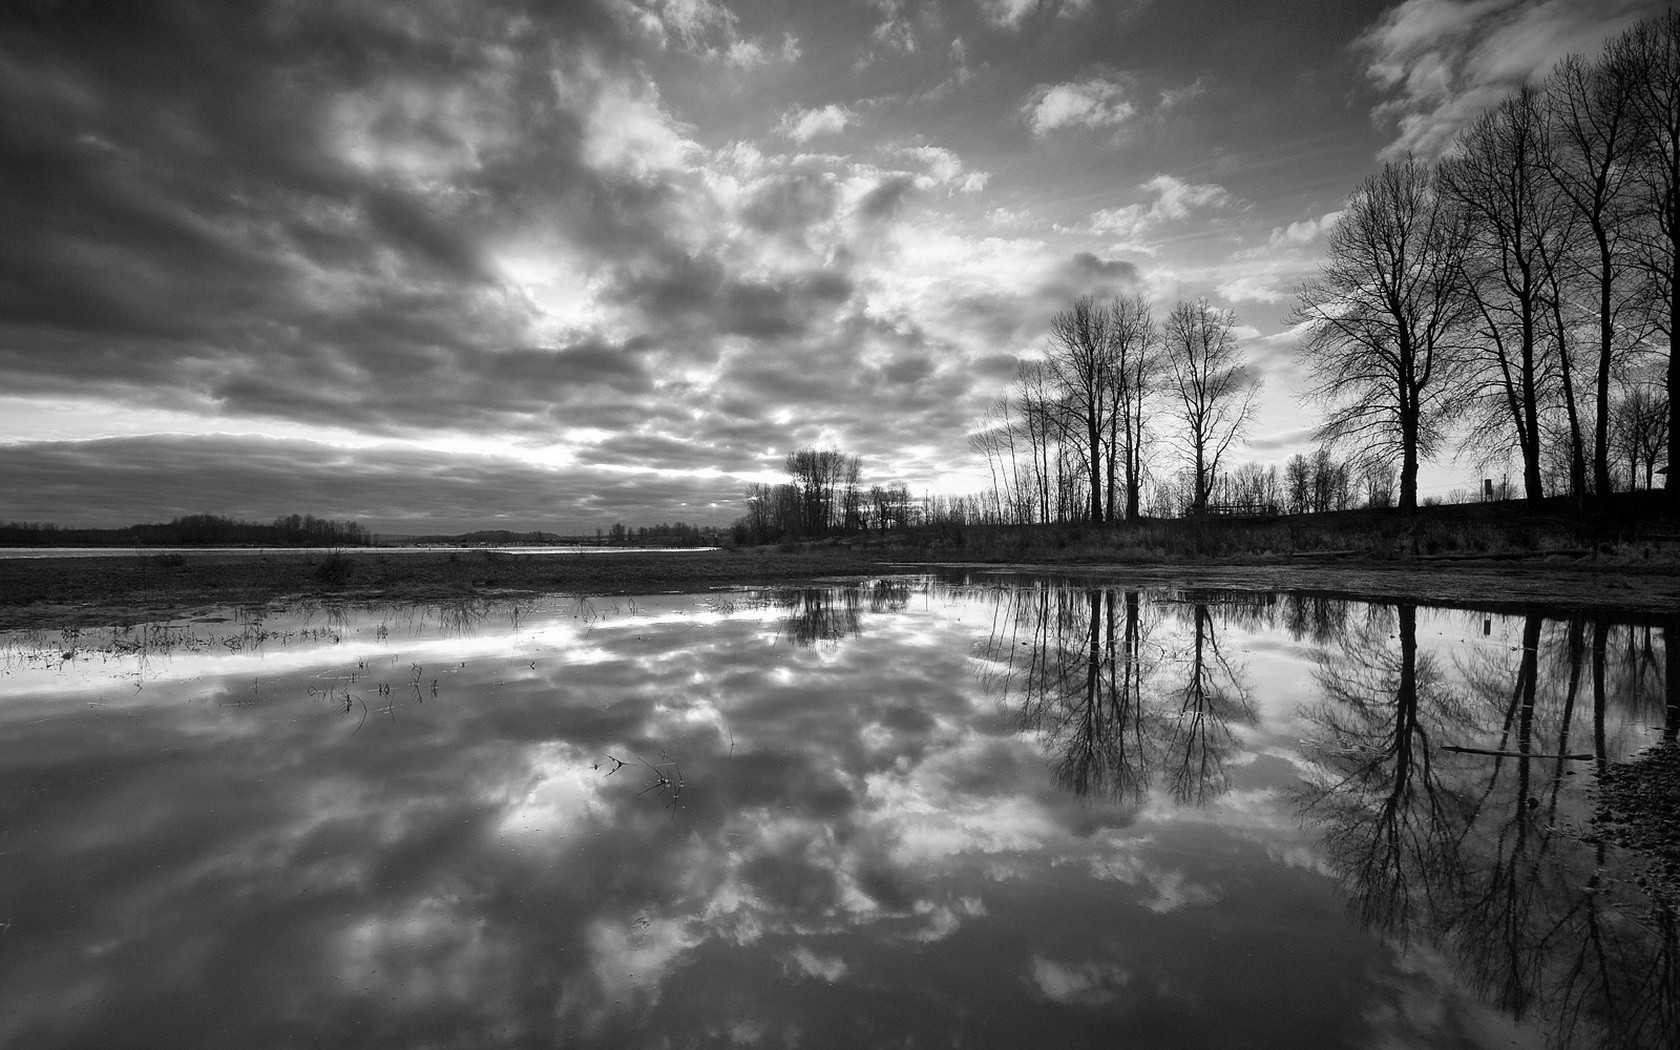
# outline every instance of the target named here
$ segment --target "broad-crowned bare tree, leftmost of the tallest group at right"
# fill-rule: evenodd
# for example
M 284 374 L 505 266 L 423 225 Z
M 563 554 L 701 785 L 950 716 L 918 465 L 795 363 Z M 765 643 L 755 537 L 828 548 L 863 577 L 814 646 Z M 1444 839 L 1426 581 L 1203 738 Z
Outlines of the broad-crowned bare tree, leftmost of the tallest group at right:
M 1463 361 L 1465 223 L 1416 160 L 1366 178 L 1329 235 L 1324 269 L 1302 286 L 1294 323 L 1309 396 L 1329 410 L 1320 440 L 1399 460 L 1399 506 L 1418 506 L 1418 465 L 1443 437 Z

